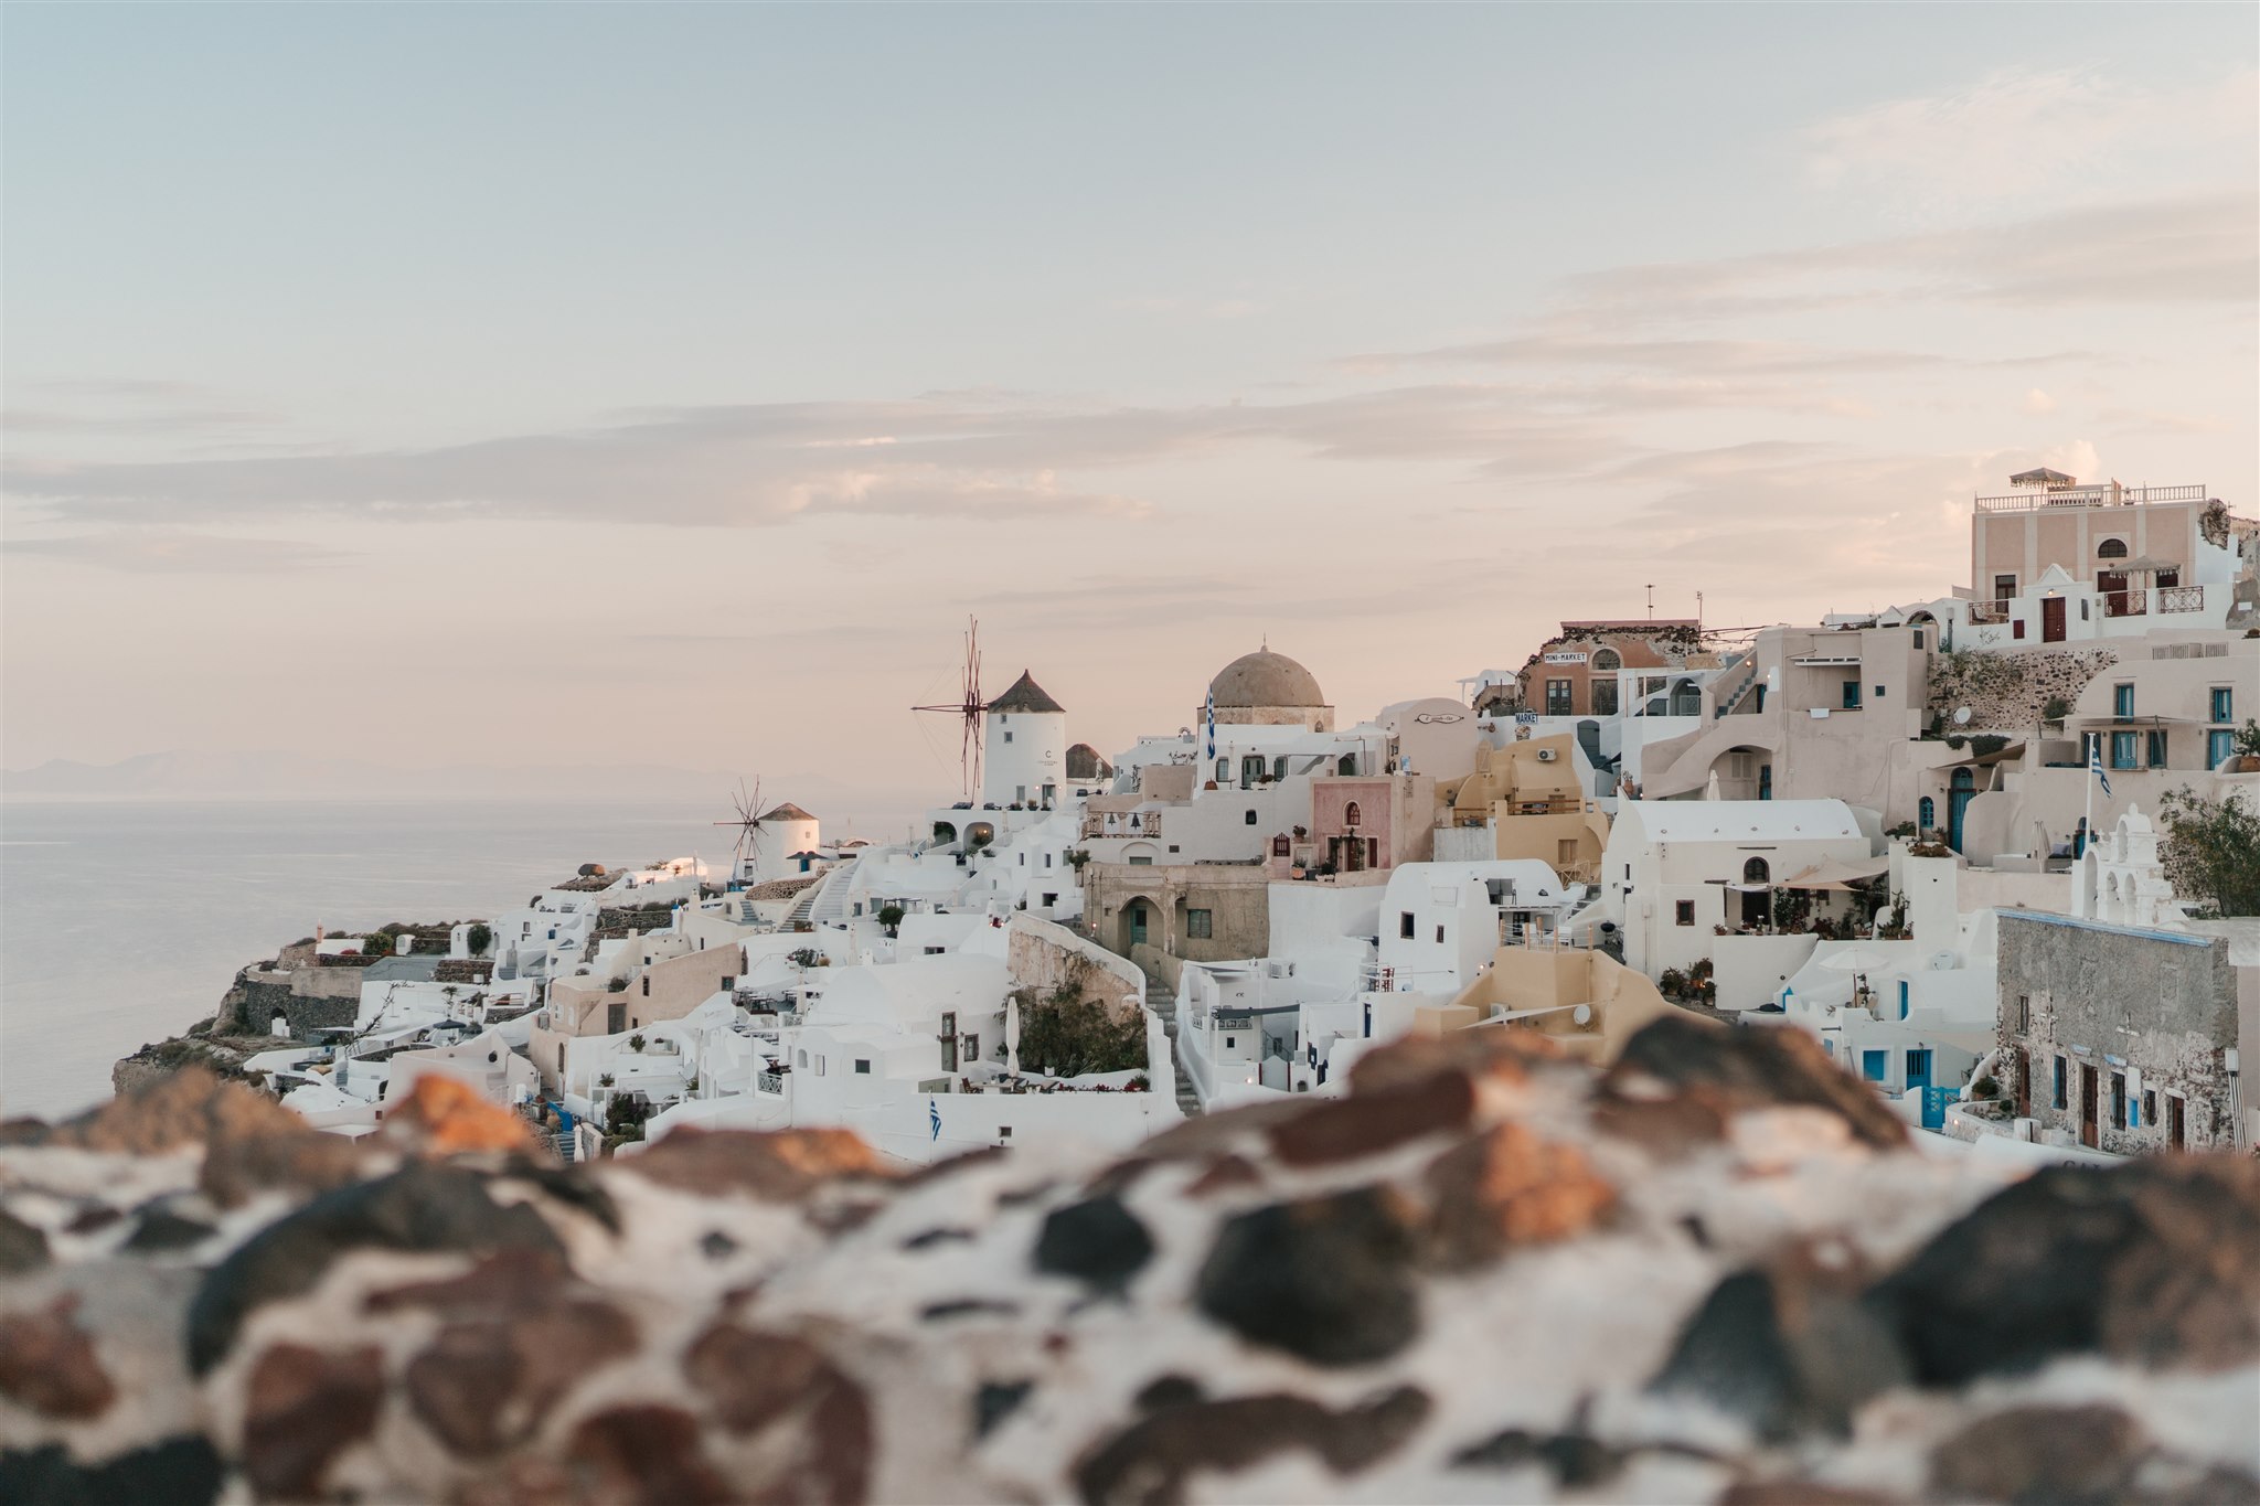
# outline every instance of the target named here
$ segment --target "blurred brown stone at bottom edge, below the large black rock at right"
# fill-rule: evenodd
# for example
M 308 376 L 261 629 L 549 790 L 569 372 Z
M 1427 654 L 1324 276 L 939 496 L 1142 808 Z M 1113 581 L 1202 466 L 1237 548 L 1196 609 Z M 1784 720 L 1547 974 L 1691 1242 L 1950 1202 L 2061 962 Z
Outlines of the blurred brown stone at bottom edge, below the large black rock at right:
M 2011 1407 L 1971 1422 L 1930 1456 L 1930 1483 L 1959 1501 L 2081 1506 L 2118 1501 L 2149 1454 L 2118 1407 Z

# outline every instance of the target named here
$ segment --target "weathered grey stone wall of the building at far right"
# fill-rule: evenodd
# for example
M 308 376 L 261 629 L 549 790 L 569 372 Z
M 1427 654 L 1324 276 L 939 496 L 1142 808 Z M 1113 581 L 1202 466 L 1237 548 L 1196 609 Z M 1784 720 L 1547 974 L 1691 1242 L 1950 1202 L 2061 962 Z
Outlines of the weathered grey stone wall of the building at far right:
M 1998 914 L 1996 1041 L 2025 1052 L 2034 1120 L 2079 1138 L 2086 1066 L 2095 1070 L 2100 1149 L 2129 1156 L 2165 1149 L 2170 1093 L 2185 1102 L 2188 1147 L 2233 1142 L 2222 1050 L 2237 1043 L 2237 982 L 2226 939 Z M 2018 1030 L 2020 998 L 2029 1030 Z M 2054 1106 L 2059 1057 L 2063 1109 Z M 2111 1122 L 2111 1079 L 2129 1072 L 2138 1075 L 2127 1082 L 2136 1106 L 2142 1093 L 2158 1097 L 2156 1118 L 2142 1115 L 2140 1127 Z

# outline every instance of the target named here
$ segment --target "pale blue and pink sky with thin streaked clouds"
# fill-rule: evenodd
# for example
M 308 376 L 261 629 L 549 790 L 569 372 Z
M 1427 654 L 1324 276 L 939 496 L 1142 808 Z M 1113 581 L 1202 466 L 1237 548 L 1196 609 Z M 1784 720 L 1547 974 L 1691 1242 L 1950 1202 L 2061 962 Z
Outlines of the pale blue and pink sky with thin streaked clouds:
M 956 783 L 2255 488 L 2260 11 L 0 11 L 0 763 Z

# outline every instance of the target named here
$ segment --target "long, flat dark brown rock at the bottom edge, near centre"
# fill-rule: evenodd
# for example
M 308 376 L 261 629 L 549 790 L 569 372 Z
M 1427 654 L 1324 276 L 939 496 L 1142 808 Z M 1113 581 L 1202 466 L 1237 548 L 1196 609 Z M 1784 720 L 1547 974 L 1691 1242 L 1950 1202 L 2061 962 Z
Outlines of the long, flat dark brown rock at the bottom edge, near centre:
M 1354 1474 L 1401 1447 L 1428 1409 L 1428 1395 L 1415 1386 L 1342 1411 L 1299 1395 L 1164 1407 L 1085 1454 L 1076 1488 L 1089 1506 L 1168 1506 L 1186 1499 L 1186 1483 L 1200 1470 L 1238 1472 L 1290 1450 Z

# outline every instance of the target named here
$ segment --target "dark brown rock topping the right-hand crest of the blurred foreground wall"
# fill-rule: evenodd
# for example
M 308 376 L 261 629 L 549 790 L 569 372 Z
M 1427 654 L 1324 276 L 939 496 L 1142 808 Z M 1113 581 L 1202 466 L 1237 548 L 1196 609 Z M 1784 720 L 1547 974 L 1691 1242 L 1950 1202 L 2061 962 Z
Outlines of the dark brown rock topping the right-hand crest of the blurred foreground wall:
M 1467 1032 L 1462 1032 L 1467 1034 Z M 1801 1030 L 1720 1027 L 1686 1014 L 1643 1025 L 1600 1079 L 1602 1102 L 1686 1097 L 1720 1115 L 1822 1109 L 1878 1149 L 1907 1142 L 1905 1122 L 1864 1082 L 1837 1068 Z

